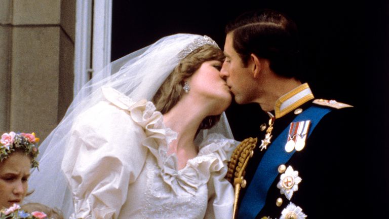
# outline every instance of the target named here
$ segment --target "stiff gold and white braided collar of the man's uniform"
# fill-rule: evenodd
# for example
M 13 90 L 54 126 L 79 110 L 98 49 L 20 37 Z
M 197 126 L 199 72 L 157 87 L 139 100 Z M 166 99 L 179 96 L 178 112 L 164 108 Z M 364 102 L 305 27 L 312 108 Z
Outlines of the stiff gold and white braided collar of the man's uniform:
M 304 104 L 305 102 L 314 99 L 314 95 L 307 83 L 304 83 L 295 89 L 281 96 L 275 105 L 276 119 L 283 117 L 293 109 Z

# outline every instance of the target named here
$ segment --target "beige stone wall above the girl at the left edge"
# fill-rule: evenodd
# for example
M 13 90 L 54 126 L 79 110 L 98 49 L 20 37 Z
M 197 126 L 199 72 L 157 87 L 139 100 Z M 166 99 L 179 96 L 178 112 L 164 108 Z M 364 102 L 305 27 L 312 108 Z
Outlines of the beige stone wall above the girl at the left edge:
M 0 131 L 45 138 L 73 96 L 75 1 L 0 1 Z

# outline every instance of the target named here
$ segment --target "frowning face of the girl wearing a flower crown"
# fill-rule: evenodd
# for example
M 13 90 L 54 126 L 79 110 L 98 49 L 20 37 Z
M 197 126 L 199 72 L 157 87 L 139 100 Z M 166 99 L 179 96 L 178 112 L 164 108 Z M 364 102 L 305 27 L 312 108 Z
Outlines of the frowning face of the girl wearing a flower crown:
M 31 159 L 14 152 L 0 162 L 0 208 L 20 204 L 27 193 Z

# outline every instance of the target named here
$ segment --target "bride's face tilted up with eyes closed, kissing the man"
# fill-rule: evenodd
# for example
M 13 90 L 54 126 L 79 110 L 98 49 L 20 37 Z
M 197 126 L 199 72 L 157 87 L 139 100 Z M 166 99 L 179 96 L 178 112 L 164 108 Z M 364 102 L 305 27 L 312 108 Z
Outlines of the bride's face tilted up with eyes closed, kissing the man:
M 189 81 L 190 91 L 217 103 L 215 115 L 221 114 L 231 103 L 232 96 L 227 83 L 220 76 L 222 62 L 204 62 Z

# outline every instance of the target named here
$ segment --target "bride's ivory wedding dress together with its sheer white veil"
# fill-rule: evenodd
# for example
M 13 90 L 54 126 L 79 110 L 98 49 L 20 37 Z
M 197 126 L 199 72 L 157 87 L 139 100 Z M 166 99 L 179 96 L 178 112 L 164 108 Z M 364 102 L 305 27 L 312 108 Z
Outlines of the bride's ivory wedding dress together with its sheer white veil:
M 225 114 L 198 134 L 199 155 L 177 170 L 175 155 L 166 156 L 175 133 L 149 102 L 203 45 L 217 47 L 207 36 L 166 36 L 97 73 L 41 143 L 25 201 L 58 208 L 64 218 L 228 218 L 233 194 L 223 176 L 234 142 Z

